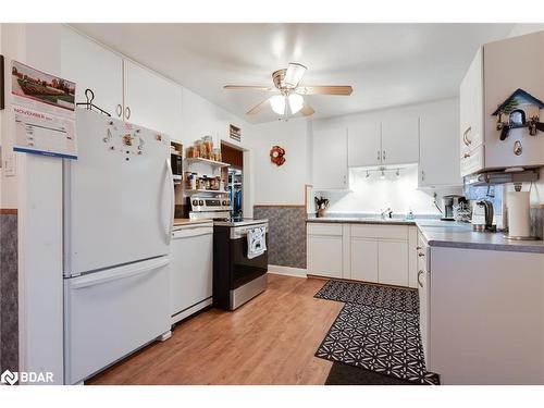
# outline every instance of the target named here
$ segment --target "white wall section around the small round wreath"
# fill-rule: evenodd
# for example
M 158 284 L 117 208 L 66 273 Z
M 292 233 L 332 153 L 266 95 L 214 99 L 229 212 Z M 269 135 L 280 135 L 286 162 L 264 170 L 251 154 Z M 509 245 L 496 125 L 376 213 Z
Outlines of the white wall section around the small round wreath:
M 255 205 L 304 205 L 310 159 L 306 119 L 254 125 L 250 137 Z M 285 149 L 281 166 L 270 161 L 274 145 Z

